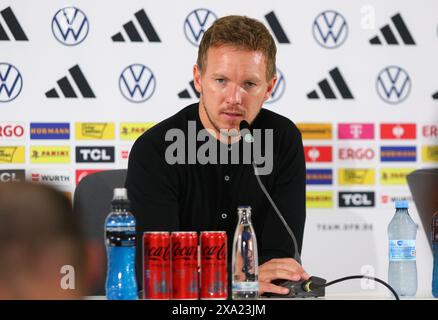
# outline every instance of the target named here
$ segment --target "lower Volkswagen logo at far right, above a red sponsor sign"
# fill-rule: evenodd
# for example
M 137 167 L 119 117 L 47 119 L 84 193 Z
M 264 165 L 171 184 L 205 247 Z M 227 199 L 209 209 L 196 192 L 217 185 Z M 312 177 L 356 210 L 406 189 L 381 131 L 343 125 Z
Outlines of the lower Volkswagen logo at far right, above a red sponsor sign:
M 377 76 L 376 89 L 383 101 L 398 104 L 409 96 L 411 78 L 402 68 L 389 66 Z

